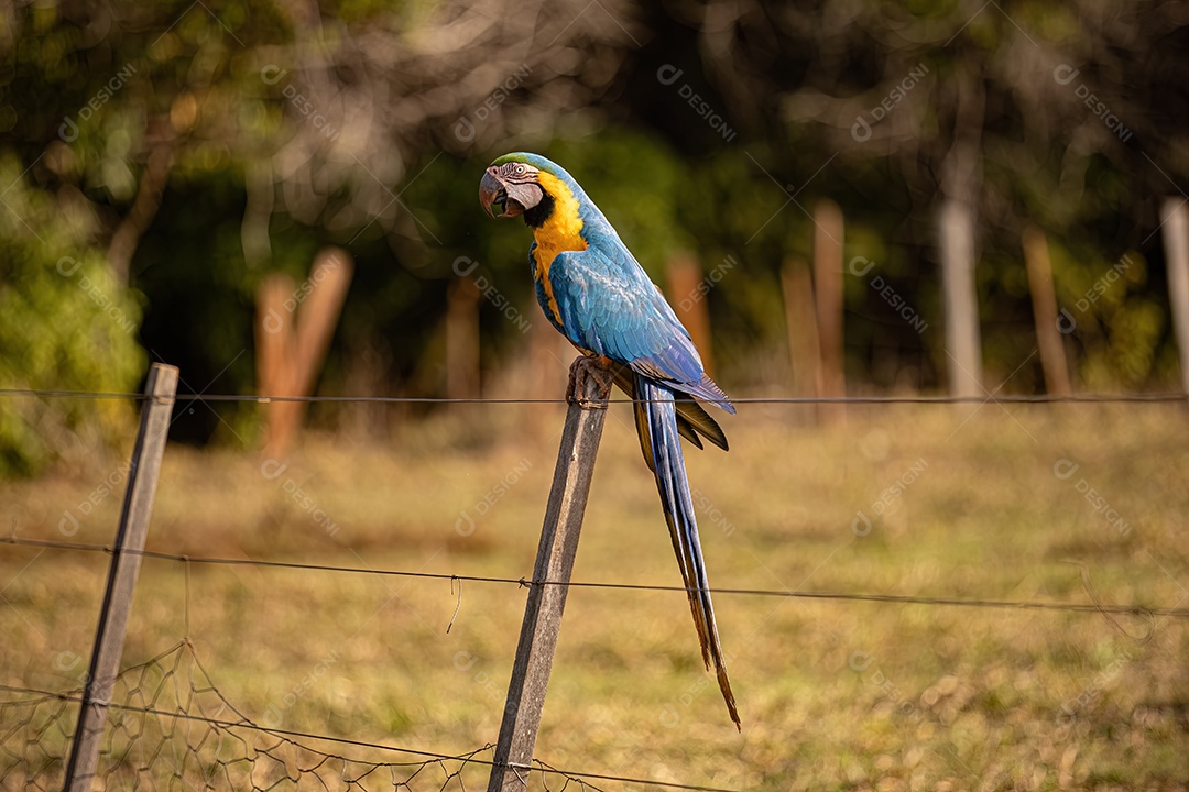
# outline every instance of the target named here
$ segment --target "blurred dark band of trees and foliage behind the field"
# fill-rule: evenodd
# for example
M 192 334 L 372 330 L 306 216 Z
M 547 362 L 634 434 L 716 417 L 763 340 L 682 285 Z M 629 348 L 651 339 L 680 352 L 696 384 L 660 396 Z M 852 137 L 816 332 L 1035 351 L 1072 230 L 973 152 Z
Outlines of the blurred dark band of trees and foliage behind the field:
M 40 284 L 40 311 L 82 299 L 71 322 L 83 323 L 39 330 L 52 366 L 49 351 L 6 346 L 5 384 L 132 389 L 139 340 L 195 389 L 247 392 L 257 285 L 278 270 L 300 283 L 336 243 L 358 268 L 325 389 L 440 393 L 460 256 L 536 318 L 522 234 L 483 222 L 474 196 L 491 156 L 534 148 L 579 176 L 658 280 L 674 248 L 707 271 L 737 262 L 707 297 L 735 387 L 786 380 L 780 267 L 809 255 L 824 197 L 847 216 L 845 259 L 876 267 L 845 279 L 855 387 L 933 387 L 949 366 L 936 277 L 946 199 L 975 229 L 989 384 L 1034 348 L 1019 251 L 1031 221 L 1077 315 L 1082 384 L 1166 385 L 1176 361 L 1152 232 L 1189 172 L 1187 44 L 1176 4 L 1092 0 L 0 5 L 0 156 L 19 185 L 0 194 L 2 299 Z M 1116 293 L 1076 311 L 1125 252 L 1137 265 Z M 54 271 L 63 255 L 109 290 L 106 308 Z M 136 330 L 84 350 L 80 337 L 119 329 L 111 306 Z M 0 316 L 10 344 L 18 316 Z M 522 338 L 493 300 L 480 319 L 493 368 Z M 1013 387 L 1040 381 L 1033 361 Z M 46 436 L 29 412 L 51 407 L 5 405 L 10 469 L 52 456 L 52 441 L 30 444 Z M 218 410 L 193 439 L 222 419 L 252 442 L 250 405 Z

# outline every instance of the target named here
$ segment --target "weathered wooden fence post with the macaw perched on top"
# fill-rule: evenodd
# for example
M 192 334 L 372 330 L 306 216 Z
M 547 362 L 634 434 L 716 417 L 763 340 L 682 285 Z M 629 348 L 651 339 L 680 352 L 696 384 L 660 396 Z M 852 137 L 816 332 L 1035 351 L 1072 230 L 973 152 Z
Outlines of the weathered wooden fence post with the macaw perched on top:
M 594 456 L 603 437 L 611 374 L 591 359 L 579 357 L 570 367 L 570 410 L 558 449 L 553 488 L 541 527 L 541 544 L 533 568 L 533 585 L 524 606 L 516 661 L 508 684 L 508 703 L 487 792 L 528 788 L 533 748 L 541 726 L 545 692 L 558 647 L 561 613 L 570 593 L 570 575 L 578 552 L 586 496 L 590 494 Z

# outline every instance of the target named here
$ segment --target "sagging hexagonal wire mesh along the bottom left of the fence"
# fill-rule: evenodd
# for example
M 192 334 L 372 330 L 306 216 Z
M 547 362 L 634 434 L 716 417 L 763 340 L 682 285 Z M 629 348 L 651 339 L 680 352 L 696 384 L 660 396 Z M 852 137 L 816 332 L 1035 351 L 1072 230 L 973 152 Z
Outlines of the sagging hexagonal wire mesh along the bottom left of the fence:
M 82 689 L 0 685 L 0 790 L 62 788 L 82 697 Z M 181 641 L 118 677 L 95 781 L 106 790 L 466 792 L 485 784 L 492 752 L 433 754 L 259 726 Z M 394 753 L 411 759 L 394 761 Z M 543 762 L 534 769 L 534 791 L 599 790 Z

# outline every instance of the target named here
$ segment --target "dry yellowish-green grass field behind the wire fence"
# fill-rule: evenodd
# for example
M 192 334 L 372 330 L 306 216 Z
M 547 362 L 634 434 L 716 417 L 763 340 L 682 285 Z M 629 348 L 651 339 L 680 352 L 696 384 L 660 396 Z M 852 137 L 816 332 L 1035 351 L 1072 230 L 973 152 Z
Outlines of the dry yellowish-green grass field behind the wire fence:
M 729 454 L 687 454 L 712 585 L 1189 607 L 1183 408 L 868 406 L 825 429 L 795 410 L 746 405 L 723 422 Z M 529 577 L 561 426 L 540 412 L 531 438 L 474 435 L 465 419 L 375 445 L 314 436 L 275 477 L 279 464 L 262 473 L 256 456 L 171 446 L 150 549 Z M 84 517 L 80 505 L 120 469 L 113 457 L 0 483 L 2 517 L 61 539 L 71 511 L 70 540 L 108 543 L 121 487 Z M 106 569 L 100 553 L 0 545 L 0 682 L 77 685 Z M 680 582 L 624 405 L 575 579 Z M 182 564 L 146 559 L 125 663 L 185 634 L 185 600 Z M 496 739 L 523 603 L 517 585 L 464 583 L 459 597 L 448 581 L 194 564 L 189 635 L 258 722 L 454 754 Z M 682 594 L 577 588 L 536 755 L 737 790 L 1189 779 L 1183 617 L 726 594 L 716 608 L 742 734 L 700 667 Z M 473 771 L 467 788 L 482 788 Z

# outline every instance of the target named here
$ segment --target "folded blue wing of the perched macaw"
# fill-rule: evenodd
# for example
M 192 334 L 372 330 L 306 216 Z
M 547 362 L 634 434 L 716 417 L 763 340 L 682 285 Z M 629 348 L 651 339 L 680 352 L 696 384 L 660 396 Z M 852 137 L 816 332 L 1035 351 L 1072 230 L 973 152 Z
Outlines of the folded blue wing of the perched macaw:
M 574 344 L 735 412 L 706 376 L 688 331 L 622 242 L 559 253 L 549 280 L 561 315 L 559 329 Z M 540 285 L 537 290 L 543 297 Z

